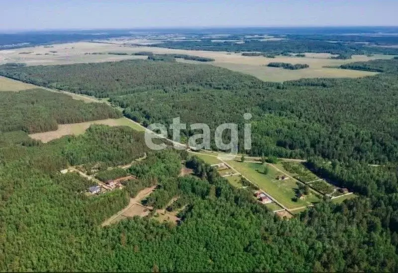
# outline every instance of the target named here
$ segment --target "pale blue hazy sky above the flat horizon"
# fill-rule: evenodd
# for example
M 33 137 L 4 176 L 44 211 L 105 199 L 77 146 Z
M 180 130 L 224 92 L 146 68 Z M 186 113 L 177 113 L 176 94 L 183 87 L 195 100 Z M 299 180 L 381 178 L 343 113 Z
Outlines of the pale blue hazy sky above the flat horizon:
M 398 0 L 0 0 L 0 30 L 398 26 Z

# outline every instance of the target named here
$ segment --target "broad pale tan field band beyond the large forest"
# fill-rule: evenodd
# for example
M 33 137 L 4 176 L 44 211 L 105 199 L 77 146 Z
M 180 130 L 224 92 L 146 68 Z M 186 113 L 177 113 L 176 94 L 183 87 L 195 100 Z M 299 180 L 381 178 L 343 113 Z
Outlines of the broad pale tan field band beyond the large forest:
M 117 44 L 106 43 L 67 43 L 54 45 L 52 48 L 43 46 L 22 48 L 15 50 L 0 51 L 0 64 L 4 63 L 26 63 L 27 65 L 59 65 L 72 63 L 92 63 L 92 62 L 109 62 L 125 59 L 146 59 L 146 56 L 117 56 L 117 55 L 85 55 L 85 53 L 94 52 L 125 52 L 128 54 L 149 51 L 155 54 L 188 54 L 200 57 L 213 58 L 214 62 L 202 63 L 195 61 L 179 60 L 180 62 L 213 65 L 222 68 L 228 68 L 234 71 L 250 74 L 262 80 L 267 81 L 284 81 L 293 80 L 304 77 L 361 77 L 374 75 L 375 72 L 347 70 L 338 68 L 324 68 L 325 66 L 339 66 L 341 64 L 352 63 L 357 61 L 368 61 L 375 59 L 391 59 L 388 55 L 374 55 L 367 57 L 364 55 L 353 56 L 350 60 L 332 60 L 329 59 L 330 54 L 324 53 L 306 53 L 306 57 L 286 57 L 279 56 L 276 58 L 265 58 L 262 56 L 247 57 L 241 56 L 240 53 L 230 52 L 213 52 L 213 51 L 194 51 L 179 50 L 167 48 L 155 48 L 146 46 L 131 46 L 121 44 L 122 41 L 115 41 Z M 56 53 L 49 53 L 56 51 Z M 20 54 L 22 52 L 31 52 L 29 54 Z M 49 55 L 44 55 L 44 54 Z M 41 55 L 36 55 L 41 54 Z M 270 62 L 285 62 L 292 64 L 308 64 L 309 68 L 299 70 L 287 70 L 282 68 L 270 68 L 266 65 Z

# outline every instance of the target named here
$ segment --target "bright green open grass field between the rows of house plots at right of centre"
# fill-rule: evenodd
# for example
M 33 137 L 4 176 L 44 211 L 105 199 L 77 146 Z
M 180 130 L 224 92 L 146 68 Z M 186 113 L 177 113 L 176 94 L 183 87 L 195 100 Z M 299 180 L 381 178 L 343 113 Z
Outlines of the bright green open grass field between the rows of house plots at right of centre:
M 269 168 L 268 174 L 265 175 L 257 171 L 260 167 L 258 163 L 228 161 L 228 164 L 288 208 L 310 205 L 319 201 L 319 198 L 312 193 L 305 200 L 298 199 L 297 202 L 293 201 L 296 197 L 296 189 L 298 189 L 296 181 L 293 179 L 276 180 L 278 172 L 272 167 Z

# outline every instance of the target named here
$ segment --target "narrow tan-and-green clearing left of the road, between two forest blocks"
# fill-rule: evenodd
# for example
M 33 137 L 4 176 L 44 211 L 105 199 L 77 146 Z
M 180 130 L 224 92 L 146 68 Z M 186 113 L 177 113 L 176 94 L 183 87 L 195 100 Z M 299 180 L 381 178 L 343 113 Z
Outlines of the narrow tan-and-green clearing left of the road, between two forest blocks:
M 62 136 L 69 136 L 69 135 L 81 135 L 86 132 L 86 130 L 93 124 L 103 124 L 109 126 L 128 126 L 136 131 L 143 131 L 142 127 L 132 123 L 127 118 L 120 118 L 120 119 L 106 119 L 106 120 L 99 120 L 99 121 L 90 121 L 90 122 L 83 122 L 83 123 L 73 123 L 73 124 L 61 124 L 58 126 L 58 130 L 44 132 L 44 133 L 37 133 L 29 135 L 33 139 L 41 140 L 42 142 L 46 143 L 53 139 L 60 138 Z

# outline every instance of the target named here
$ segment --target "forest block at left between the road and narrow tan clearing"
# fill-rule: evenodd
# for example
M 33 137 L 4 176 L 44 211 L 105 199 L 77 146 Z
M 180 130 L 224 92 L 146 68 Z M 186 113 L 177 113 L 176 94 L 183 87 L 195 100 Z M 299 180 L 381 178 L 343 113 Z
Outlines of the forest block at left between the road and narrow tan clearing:
M 0 133 L 38 133 L 58 129 L 58 124 L 79 123 L 121 114 L 105 103 L 85 103 L 71 96 L 43 89 L 1 92 Z

